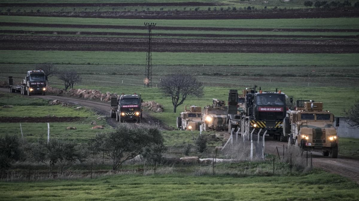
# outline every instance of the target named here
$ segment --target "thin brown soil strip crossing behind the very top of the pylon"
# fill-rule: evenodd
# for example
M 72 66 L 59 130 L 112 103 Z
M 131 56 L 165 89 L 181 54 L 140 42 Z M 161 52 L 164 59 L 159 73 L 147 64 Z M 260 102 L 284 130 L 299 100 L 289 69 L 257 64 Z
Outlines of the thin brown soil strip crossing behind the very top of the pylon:
M 94 25 L 94 24 L 41 24 L 2 22 L 1 26 L 38 26 L 56 28 L 99 28 L 99 29 L 147 29 L 145 26 Z M 307 31 L 307 32 L 359 32 L 359 29 L 277 29 L 277 28 L 224 28 L 191 26 L 155 26 L 155 30 L 203 30 L 203 31 Z

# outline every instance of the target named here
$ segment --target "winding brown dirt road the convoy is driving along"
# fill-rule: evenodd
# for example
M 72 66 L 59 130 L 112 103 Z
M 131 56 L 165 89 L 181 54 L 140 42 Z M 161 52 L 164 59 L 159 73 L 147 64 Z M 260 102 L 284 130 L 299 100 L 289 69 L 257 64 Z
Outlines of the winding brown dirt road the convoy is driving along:
M 7 88 L 0 88 L 2 92 L 8 92 Z M 96 102 L 92 100 L 84 100 L 78 98 L 70 98 L 70 97 L 60 97 L 54 95 L 34 95 L 31 97 L 24 96 L 26 98 L 36 97 L 36 98 L 44 98 L 48 100 L 61 100 L 64 102 L 73 103 L 76 105 L 86 106 L 97 110 L 100 114 L 107 115 L 109 114 L 109 103 Z M 118 122 L 116 119 L 109 119 L 109 124 L 116 127 Z M 143 120 L 141 125 L 154 125 L 159 124 L 162 129 L 167 130 L 168 126 L 160 123 L 160 121 L 156 118 L 151 117 L 148 113 L 144 113 Z M 137 123 L 129 122 L 129 126 L 136 127 L 139 126 Z M 242 140 L 242 139 L 238 139 Z M 286 142 L 279 142 L 270 138 L 266 138 L 265 142 L 265 152 L 277 155 L 276 147 L 278 147 L 279 154 L 283 153 L 283 145 L 284 149 L 288 146 Z M 322 168 L 328 172 L 336 173 L 344 177 L 348 177 L 351 180 L 359 183 L 359 160 L 354 160 L 351 158 L 346 158 L 344 156 L 338 156 L 338 158 L 330 158 L 326 156 L 322 156 L 320 152 L 312 152 L 313 155 L 313 166 Z

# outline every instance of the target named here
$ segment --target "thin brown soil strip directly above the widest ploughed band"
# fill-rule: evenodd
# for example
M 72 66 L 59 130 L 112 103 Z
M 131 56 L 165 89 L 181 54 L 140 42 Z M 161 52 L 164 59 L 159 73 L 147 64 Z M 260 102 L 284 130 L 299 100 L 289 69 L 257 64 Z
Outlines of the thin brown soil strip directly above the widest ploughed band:
M 61 34 L 61 35 L 106 35 L 106 36 L 148 36 L 147 33 L 117 33 L 95 31 L 23 31 L 23 30 L 0 30 L 0 33 L 8 34 Z M 257 35 L 257 34 L 152 34 L 152 36 L 185 36 L 205 38 L 342 38 L 355 39 L 358 35 Z

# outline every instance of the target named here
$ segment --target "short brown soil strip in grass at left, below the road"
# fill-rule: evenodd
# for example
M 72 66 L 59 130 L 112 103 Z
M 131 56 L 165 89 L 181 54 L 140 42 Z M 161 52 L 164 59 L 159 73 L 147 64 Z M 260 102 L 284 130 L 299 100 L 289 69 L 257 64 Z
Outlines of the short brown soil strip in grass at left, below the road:
M 47 123 L 47 122 L 76 122 L 83 121 L 85 117 L 0 117 L 3 123 Z

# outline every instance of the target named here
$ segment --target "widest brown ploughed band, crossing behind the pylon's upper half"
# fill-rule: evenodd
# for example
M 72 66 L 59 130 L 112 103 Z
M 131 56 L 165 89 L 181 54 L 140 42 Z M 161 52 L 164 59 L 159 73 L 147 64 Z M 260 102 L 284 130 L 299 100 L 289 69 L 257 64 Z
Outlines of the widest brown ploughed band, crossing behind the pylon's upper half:
M 206 37 L 205 37 L 206 38 Z M 1 50 L 146 52 L 146 38 L 1 35 Z M 359 40 L 178 39 L 152 40 L 153 52 L 359 53 Z

